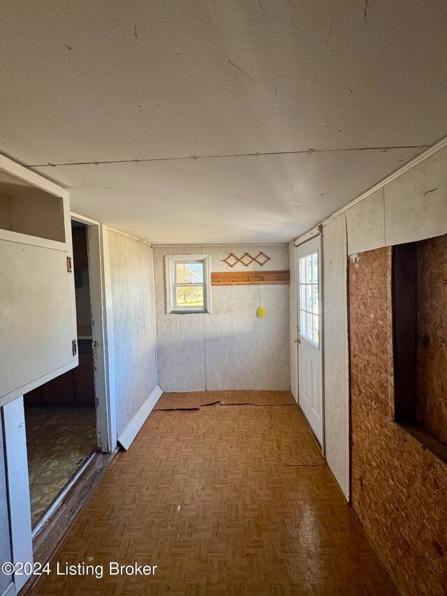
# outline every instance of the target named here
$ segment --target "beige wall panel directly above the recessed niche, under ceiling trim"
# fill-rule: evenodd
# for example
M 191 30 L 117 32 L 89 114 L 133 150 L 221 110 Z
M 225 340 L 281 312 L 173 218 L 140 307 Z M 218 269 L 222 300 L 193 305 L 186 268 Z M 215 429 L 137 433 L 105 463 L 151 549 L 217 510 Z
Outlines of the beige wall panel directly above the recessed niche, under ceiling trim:
M 447 147 L 384 187 L 386 245 L 447 233 Z

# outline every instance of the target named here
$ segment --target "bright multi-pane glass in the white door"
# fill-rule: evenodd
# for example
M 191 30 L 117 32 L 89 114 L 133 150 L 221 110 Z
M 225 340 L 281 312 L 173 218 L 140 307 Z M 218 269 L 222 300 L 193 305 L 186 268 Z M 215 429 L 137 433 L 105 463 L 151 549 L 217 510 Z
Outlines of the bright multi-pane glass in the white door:
M 300 258 L 300 333 L 318 347 L 318 252 Z

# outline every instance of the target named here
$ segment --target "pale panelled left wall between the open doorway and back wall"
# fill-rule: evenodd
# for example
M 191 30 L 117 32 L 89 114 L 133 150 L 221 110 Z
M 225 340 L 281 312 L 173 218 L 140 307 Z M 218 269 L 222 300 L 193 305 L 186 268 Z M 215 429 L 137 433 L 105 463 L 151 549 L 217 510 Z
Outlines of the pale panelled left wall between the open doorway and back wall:
M 110 230 L 117 433 L 157 384 L 152 247 Z

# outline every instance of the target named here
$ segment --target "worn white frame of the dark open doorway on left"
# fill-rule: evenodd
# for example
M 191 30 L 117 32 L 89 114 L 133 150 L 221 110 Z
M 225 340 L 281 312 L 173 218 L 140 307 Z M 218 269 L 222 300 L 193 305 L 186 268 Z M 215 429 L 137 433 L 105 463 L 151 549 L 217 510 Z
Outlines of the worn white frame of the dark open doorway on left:
M 110 277 L 110 263 L 105 254 L 105 245 L 108 243 L 104 242 L 103 226 L 98 221 L 73 212 L 71 219 L 87 226 L 96 437 L 98 448 L 103 453 L 112 453 L 117 446 L 117 425 L 115 385 L 114 379 L 109 376 L 113 324 L 106 312 L 107 279 Z

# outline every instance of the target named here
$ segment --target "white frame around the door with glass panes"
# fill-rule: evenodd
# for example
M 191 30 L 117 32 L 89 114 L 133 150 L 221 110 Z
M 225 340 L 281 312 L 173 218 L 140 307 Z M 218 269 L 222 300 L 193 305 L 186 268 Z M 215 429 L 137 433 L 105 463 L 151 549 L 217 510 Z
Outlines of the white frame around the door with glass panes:
M 320 315 L 320 353 L 321 353 L 321 455 L 325 458 L 326 454 L 326 433 L 325 433 L 325 391 L 324 391 L 324 258 L 323 258 L 323 226 L 318 226 L 318 232 L 311 236 L 311 238 L 306 238 L 302 242 L 295 242 L 295 250 L 293 252 L 294 255 L 294 269 L 295 269 L 295 313 L 296 313 L 296 335 L 298 339 L 298 327 L 300 326 L 300 318 L 299 318 L 299 305 L 300 305 L 300 277 L 298 275 L 298 266 L 299 260 L 296 256 L 296 252 L 298 247 L 305 245 L 306 242 L 310 240 L 314 240 L 316 236 L 320 238 L 320 246 L 318 252 L 318 293 L 319 293 L 319 315 Z M 296 354 L 295 354 L 295 361 L 297 362 L 297 395 L 298 395 L 298 407 L 300 408 L 300 412 L 302 413 L 302 409 L 300 406 L 300 360 L 299 360 L 299 349 L 300 344 L 297 340 L 295 340 L 296 346 Z M 302 413 L 305 417 L 305 414 Z M 306 421 L 307 422 L 307 421 Z M 307 423 L 309 426 L 309 423 Z M 309 426 L 310 428 L 310 426 Z M 311 429 L 312 435 L 314 435 Z M 318 441 L 316 441 L 318 444 Z M 318 445 L 319 446 L 319 445 Z

